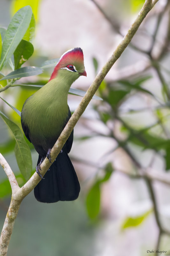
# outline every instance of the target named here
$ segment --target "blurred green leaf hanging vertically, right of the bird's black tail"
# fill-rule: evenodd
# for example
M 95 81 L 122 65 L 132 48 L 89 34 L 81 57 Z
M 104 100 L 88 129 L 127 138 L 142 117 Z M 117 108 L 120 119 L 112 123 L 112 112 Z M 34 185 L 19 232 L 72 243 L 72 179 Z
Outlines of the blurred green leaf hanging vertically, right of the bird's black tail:
M 89 190 L 86 198 L 87 213 L 91 220 L 96 219 L 100 211 L 100 186 L 96 182 Z

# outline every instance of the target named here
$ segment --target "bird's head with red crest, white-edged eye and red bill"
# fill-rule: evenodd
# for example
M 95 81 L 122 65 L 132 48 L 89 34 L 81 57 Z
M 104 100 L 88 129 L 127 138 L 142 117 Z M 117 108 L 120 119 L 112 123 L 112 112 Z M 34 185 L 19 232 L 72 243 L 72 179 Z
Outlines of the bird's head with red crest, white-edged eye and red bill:
M 61 56 L 49 81 L 58 75 L 68 77 L 72 81 L 75 81 L 79 76 L 86 76 L 83 51 L 81 48 L 73 48 Z

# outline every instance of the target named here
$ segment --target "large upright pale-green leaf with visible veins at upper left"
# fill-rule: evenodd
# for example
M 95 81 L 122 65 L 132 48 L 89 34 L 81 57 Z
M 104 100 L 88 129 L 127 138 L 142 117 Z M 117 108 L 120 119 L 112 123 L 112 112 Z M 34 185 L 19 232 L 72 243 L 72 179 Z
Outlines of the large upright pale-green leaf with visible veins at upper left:
M 17 45 L 23 38 L 26 30 L 30 24 L 32 16 L 32 9 L 30 6 L 21 8 L 13 16 L 7 31 L 4 36 L 4 42 L 2 44 L 2 55 L 0 60 L 0 70 L 8 62 L 14 53 Z

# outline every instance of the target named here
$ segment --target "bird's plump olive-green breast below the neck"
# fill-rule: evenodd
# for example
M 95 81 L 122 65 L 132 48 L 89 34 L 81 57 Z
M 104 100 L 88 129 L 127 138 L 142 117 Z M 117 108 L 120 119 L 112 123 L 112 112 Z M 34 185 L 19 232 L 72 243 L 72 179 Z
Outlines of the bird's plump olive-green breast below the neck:
M 68 92 L 51 82 L 29 97 L 22 109 L 32 140 L 58 137 L 68 119 Z

